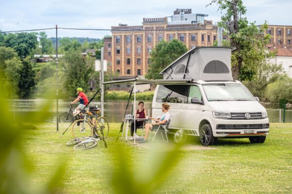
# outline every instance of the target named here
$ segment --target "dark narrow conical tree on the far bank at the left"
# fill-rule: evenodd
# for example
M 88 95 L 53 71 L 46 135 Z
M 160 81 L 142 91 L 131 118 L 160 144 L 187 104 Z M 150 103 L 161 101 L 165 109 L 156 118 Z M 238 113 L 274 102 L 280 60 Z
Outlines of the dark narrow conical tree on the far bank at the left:
M 18 81 L 19 96 L 30 97 L 36 85 L 36 72 L 33 70 L 30 58 L 26 57 L 22 61 L 20 68 L 20 79 Z

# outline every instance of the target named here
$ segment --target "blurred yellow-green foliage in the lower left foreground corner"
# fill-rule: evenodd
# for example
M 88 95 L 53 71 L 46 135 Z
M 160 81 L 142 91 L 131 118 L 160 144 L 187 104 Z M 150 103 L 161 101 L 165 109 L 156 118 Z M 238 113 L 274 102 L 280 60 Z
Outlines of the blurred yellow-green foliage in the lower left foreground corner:
M 0 75 L 2 76 L 2 75 Z M 0 86 L 2 92 L 10 93 Z M 47 96 L 49 99 L 51 96 Z M 34 113 L 27 122 L 40 122 L 50 116 L 47 110 L 51 107 L 49 103 L 43 104 L 40 111 Z M 33 181 L 33 164 L 29 160 L 23 145 L 22 132 L 25 129 L 32 128 L 26 124 L 16 124 L 13 121 L 13 114 L 9 109 L 7 99 L 0 96 L 0 107 L 2 114 L 0 116 L 0 194 L 53 194 L 61 192 L 60 179 L 64 175 L 65 162 L 57 165 L 52 178 L 48 178 L 47 184 L 42 186 L 31 184 Z M 35 127 L 34 127 L 35 128 Z M 66 160 L 63 160 L 66 161 Z M 61 192 L 62 193 L 62 192 Z

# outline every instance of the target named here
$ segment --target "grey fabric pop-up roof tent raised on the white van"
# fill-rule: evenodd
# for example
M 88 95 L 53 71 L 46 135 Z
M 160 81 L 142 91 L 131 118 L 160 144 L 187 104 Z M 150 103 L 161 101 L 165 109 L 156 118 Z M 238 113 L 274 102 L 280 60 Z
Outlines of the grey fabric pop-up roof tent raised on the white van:
M 195 47 L 168 65 L 160 75 L 164 80 L 233 81 L 232 47 Z

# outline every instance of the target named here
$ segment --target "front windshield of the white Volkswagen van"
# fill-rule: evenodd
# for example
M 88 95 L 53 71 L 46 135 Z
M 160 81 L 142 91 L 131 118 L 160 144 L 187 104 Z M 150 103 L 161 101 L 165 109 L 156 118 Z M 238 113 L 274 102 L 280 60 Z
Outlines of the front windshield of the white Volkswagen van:
M 220 83 L 202 85 L 208 101 L 254 101 L 242 84 Z

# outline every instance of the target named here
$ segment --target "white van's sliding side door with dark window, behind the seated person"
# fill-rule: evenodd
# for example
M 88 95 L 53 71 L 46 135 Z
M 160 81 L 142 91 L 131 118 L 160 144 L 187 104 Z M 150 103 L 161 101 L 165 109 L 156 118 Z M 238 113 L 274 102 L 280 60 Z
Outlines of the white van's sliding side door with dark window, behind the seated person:
M 171 122 L 169 127 L 180 129 L 183 123 L 183 105 L 187 102 L 189 85 L 160 85 L 156 94 L 156 100 L 152 103 L 152 116 L 160 117 L 163 112 L 161 105 L 166 102 L 170 105 L 169 113 Z

